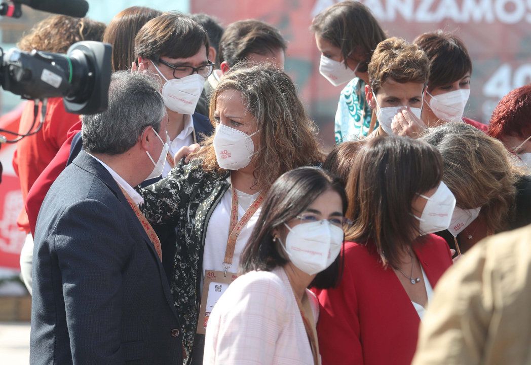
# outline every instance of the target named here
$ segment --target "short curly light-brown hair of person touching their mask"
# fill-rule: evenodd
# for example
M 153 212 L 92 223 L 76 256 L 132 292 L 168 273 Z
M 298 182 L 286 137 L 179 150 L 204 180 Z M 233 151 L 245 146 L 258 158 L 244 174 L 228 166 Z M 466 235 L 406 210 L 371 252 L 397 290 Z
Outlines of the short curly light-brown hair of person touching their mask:
M 430 75 L 430 61 L 416 44 L 409 44 L 402 38 L 391 37 L 382 40 L 369 63 L 369 84 L 376 94 L 389 79 L 397 82 L 427 84 Z

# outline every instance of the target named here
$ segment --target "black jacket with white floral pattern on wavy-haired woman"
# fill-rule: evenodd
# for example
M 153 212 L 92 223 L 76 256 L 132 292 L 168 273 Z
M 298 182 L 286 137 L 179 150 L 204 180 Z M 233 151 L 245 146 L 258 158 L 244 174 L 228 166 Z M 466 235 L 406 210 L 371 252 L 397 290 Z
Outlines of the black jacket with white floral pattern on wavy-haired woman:
M 202 160 L 180 162 L 166 179 L 140 190 L 142 213 L 151 224 L 176 227 L 177 252 L 170 289 L 182 324 L 183 342 L 191 353 L 199 315 L 200 280 L 206 227 L 230 184 L 229 172 L 205 172 Z

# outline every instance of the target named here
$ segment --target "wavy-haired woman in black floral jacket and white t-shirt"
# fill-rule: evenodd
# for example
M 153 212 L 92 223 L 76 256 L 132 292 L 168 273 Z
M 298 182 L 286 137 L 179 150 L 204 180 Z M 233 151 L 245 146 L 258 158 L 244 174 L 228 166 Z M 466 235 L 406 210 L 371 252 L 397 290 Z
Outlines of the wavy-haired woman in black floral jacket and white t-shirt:
M 182 160 L 168 177 L 141 192 L 141 209 L 152 224 L 176 226 L 170 288 L 192 363 L 202 361 L 210 312 L 203 282 L 236 276 L 273 182 L 293 168 L 321 161 L 313 123 L 295 85 L 276 67 L 233 67 L 212 95 L 210 119 L 216 132 L 190 163 Z

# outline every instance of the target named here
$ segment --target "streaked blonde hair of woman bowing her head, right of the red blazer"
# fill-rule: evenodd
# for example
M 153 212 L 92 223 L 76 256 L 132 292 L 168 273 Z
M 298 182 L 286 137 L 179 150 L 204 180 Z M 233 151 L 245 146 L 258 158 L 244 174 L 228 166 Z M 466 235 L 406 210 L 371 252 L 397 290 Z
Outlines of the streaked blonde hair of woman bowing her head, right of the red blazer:
M 463 122 L 426 130 L 421 140 L 442 155 L 442 180 L 463 209 L 481 207 L 487 230 L 506 228 L 515 203 L 515 184 L 523 175 L 503 143 Z

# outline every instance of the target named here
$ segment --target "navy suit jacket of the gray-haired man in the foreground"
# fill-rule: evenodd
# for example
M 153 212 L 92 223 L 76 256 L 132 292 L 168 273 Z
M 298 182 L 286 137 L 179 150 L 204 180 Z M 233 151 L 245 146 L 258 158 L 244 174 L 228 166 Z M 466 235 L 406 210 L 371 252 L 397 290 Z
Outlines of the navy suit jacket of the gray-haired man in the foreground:
M 81 152 L 37 220 L 31 364 L 179 364 L 181 326 L 153 244 L 117 183 Z

